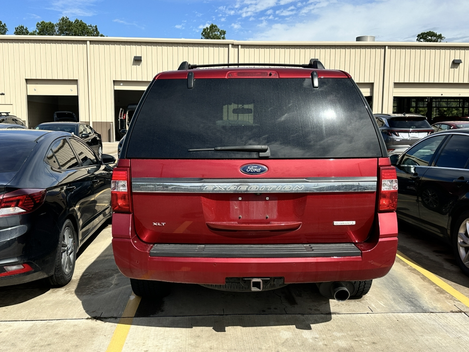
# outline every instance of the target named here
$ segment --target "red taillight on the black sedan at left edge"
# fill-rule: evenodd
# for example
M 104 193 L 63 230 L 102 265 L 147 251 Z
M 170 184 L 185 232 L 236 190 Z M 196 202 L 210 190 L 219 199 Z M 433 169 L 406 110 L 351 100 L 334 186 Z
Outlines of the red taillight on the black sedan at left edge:
M 27 214 L 43 204 L 45 190 L 36 188 L 19 189 L 0 196 L 0 217 Z

